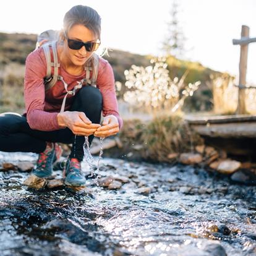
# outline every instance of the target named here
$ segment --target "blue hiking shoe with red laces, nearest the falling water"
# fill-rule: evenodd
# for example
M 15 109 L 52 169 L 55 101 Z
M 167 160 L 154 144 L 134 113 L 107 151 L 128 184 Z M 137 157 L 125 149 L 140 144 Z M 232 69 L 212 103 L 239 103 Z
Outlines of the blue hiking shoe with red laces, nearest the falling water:
M 64 183 L 67 186 L 85 186 L 85 177 L 81 174 L 81 164 L 77 158 L 71 158 L 67 160 L 64 169 L 64 176 L 66 177 Z

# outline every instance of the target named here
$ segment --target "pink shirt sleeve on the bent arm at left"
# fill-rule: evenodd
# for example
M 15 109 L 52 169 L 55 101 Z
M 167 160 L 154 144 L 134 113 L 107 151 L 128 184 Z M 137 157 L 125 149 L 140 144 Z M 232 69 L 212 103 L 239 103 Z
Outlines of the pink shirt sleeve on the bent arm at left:
M 38 49 L 30 53 L 25 63 L 24 100 L 27 113 L 27 122 L 31 129 L 58 130 L 58 113 L 49 113 L 45 108 L 46 60 Z

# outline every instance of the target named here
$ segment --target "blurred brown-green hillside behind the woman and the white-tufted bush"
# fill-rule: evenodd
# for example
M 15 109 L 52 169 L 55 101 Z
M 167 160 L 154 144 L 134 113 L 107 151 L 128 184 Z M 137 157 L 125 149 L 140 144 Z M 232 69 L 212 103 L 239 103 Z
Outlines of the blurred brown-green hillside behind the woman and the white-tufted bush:
M 0 33 L 0 86 L 4 84 L 3 73 L 6 67 L 18 64 L 20 69 L 25 64 L 27 55 L 35 49 L 36 35 L 28 35 L 23 33 Z M 109 56 L 104 56 L 109 61 L 114 70 L 116 81 L 124 84 L 124 70 L 129 69 L 130 66 L 148 66 L 150 65 L 150 58 L 152 56 L 142 56 L 140 54 L 133 54 L 118 49 L 109 50 Z M 168 63 L 169 74 L 171 78 L 181 77 L 184 72 L 189 69 L 189 74 L 186 77 L 185 83 L 195 82 L 200 80 L 199 90 L 190 99 L 187 99 L 187 109 L 194 110 L 208 110 L 211 108 L 211 83 L 209 81 L 216 76 L 220 76 L 220 72 L 208 69 L 198 62 L 181 61 L 169 56 L 166 60 Z M 13 69 L 13 68 L 12 68 Z M 11 74 L 12 83 L 16 80 L 15 72 Z M 16 75 L 17 76 L 17 75 Z M 10 77 L 8 78 L 10 80 Z M 7 79 L 7 80 L 8 80 Z M 9 81 L 8 80 L 8 81 Z M 22 81 L 18 82 L 22 84 Z M 210 85 L 210 87 L 209 87 Z M 122 88 L 122 93 L 126 90 Z M 4 95 L 4 93 L 2 93 Z M 122 95 L 121 95 L 122 96 Z M 200 101 L 199 101 L 200 100 Z M 0 105 L 3 104 L 3 99 L 0 98 Z

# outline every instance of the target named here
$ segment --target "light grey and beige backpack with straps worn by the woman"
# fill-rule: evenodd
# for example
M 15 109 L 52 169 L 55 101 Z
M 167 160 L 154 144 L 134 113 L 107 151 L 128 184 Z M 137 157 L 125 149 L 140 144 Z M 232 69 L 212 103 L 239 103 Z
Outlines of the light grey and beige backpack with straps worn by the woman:
M 61 112 L 64 111 L 65 103 L 67 95 L 75 95 L 75 91 L 77 89 L 82 88 L 84 84 L 91 85 L 93 87 L 96 87 L 96 80 L 98 77 L 98 67 L 99 67 L 99 56 L 96 53 L 93 53 L 92 57 L 87 61 L 85 64 L 85 78 L 80 80 L 78 85 L 75 85 L 74 89 L 72 91 L 67 90 L 67 83 L 64 81 L 63 77 L 59 75 L 59 67 L 60 64 L 58 63 L 58 55 L 57 55 L 57 42 L 59 39 L 59 31 L 58 30 L 46 30 L 45 32 L 40 33 L 37 38 L 36 42 L 36 49 L 42 47 L 43 51 L 45 53 L 46 58 L 46 77 L 44 78 L 45 83 L 45 92 L 47 92 L 50 88 L 52 88 L 55 83 L 58 80 L 61 80 L 64 84 L 64 88 L 66 90 L 66 96 L 64 96 L 64 99 L 62 101 L 61 106 Z M 47 43 L 43 43 L 43 45 L 40 46 L 40 42 L 42 40 L 47 40 Z M 53 59 L 51 59 L 51 51 L 50 48 L 53 51 Z M 54 72 L 52 74 L 51 67 L 54 67 Z M 92 71 L 92 78 L 90 78 L 90 71 Z

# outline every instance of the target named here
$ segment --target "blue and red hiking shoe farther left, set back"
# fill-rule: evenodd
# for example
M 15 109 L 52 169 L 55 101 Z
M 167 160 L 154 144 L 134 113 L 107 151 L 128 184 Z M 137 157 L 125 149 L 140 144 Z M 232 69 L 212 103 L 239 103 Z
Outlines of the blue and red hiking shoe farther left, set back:
M 38 155 L 36 167 L 33 169 L 32 174 L 37 177 L 49 177 L 53 174 L 53 158 L 55 155 L 55 148 L 53 143 L 47 143 L 45 151 Z

